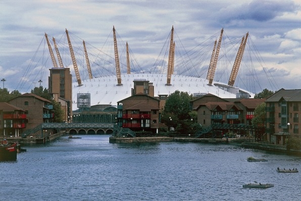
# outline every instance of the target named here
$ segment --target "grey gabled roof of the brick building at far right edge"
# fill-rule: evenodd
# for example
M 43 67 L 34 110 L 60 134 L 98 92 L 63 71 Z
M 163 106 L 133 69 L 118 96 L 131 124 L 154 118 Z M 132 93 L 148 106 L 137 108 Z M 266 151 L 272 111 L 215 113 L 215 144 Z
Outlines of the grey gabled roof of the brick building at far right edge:
M 288 102 L 301 102 L 301 89 L 280 89 L 271 95 L 266 102 L 279 102 L 281 99 Z

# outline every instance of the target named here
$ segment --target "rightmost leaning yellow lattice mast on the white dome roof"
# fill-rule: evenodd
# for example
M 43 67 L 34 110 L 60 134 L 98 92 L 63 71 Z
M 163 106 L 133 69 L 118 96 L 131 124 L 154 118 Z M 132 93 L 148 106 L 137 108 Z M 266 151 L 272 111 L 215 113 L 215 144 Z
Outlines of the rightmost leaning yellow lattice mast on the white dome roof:
M 229 82 L 228 82 L 228 85 L 231 86 L 231 87 L 233 87 L 234 82 L 236 80 L 236 76 L 237 76 L 237 73 L 238 73 L 239 65 L 240 65 L 240 62 L 241 62 L 241 59 L 242 59 L 242 55 L 243 55 L 243 51 L 244 51 L 244 48 L 245 48 L 245 44 L 246 44 L 248 34 L 249 33 L 247 32 L 245 38 L 243 36 L 242 39 L 241 39 L 241 43 L 240 43 L 240 46 L 239 46 L 239 49 L 238 49 L 238 52 L 237 52 L 237 55 L 236 55 L 236 58 L 235 58 L 235 61 L 234 61 L 234 64 L 233 64 L 233 68 L 232 68 L 232 71 L 231 71 L 231 75 L 230 75 L 230 78 L 229 78 Z

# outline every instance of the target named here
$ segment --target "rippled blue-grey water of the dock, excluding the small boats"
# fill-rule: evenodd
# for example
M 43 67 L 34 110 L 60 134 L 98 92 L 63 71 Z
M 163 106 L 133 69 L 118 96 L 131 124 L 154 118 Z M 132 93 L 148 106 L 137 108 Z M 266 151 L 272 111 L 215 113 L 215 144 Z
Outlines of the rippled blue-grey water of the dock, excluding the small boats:
M 301 158 L 229 144 L 110 144 L 107 135 L 24 147 L 0 162 L 0 200 L 300 200 Z M 268 162 L 247 162 L 247 157 Z M 273 183 L 267 189 L 245 183 Z

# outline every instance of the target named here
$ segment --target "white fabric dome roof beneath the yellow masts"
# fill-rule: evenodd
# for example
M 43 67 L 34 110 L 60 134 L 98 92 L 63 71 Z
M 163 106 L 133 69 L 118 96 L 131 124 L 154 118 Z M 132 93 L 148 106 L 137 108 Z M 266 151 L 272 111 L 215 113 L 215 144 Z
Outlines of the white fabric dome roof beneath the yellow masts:
M 215 86 L 215 84 L 227 86 L 226 84 L 213 82 L 213 85 L 209 86 L 209 81 L 204 78 L 172 75 L 170 86 L 166 86 L 167 75 L 165 74 L 126 74 L 121 75 L 121 79 L 122 86 L 117 85 L 116 76 L 105 76 L 93 78 L 92 80 L 83 80 L 82 86 L 80 87 L 77 82 L 74 82 L 72 84 L 73 110 L 76 110 L 77 108 L 78 93 L 90 93 L 91 106 L 108 104 L 117 105 L 118 101 L 131 96 L 131 89 L 134 87 L 134 80 L 143 80 L 153 83 L 155 97 L 158 97 L 159 95 L 169 95 L 178 90 L 187 92 L 188 94 L 210 93 L 221 98 L 236 98 L 236 93 L 230 93 Z M 236 91 L 238 91 L 238 89 Z M 249 93 L 252 98 L 254 97 L 253 93 L 245 90 L 242 91 Z

